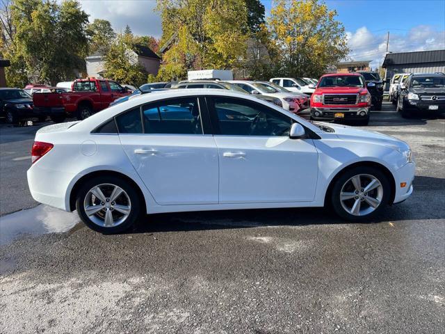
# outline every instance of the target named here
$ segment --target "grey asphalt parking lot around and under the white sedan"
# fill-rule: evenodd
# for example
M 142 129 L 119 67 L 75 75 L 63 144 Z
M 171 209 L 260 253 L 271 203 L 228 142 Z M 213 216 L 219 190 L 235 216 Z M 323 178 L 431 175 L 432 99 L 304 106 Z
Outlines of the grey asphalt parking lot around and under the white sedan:
M 385 104 L 369 128 L 418 164 L 413 196 L 374 223 L 196 212 L 104 236 L 43 206 L 3 216 L 0 333 L 444 333 L 445 120 Z M 1 214 L 35 205 L 16 159 L 35 129 L 0 125 Z

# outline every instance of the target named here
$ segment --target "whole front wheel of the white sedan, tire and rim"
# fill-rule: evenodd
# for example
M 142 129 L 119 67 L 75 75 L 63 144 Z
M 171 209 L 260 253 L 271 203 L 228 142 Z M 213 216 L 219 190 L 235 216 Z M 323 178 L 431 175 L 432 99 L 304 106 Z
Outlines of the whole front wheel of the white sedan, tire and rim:
M 348 221 L 368 221 L 389 202 L 391 186 L 378 168 L 356 167 L 335 182 L 331 202 L 335 212 Z

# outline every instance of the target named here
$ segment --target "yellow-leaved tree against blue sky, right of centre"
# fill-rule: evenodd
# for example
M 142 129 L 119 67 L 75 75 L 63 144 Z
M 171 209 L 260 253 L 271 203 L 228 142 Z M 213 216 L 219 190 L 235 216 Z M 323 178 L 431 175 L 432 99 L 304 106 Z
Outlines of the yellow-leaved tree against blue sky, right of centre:
M 268 29 L 276 75 L 318 77 L 348 54 L 337 12 L 318 0 L 276 0 Z

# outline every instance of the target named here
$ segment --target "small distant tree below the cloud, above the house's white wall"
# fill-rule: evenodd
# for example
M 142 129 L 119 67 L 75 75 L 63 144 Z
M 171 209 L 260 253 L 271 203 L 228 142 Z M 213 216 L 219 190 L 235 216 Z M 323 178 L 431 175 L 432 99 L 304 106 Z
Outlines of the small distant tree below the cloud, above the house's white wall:
M 89 38 L 88 51 L 90 54 L 94 54 L 95 52 L 107 54 L 113 40 L 116 38 L 116 33 L 111 23 L 106 19 L 95 19 L 92 23 L 88 24 L 87 35 Z

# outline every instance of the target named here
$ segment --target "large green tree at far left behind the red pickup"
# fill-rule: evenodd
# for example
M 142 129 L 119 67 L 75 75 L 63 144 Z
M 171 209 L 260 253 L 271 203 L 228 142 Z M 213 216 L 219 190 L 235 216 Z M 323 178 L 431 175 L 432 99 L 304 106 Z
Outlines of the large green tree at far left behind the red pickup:
M 26 78 L 55 85 L 85 67 L 88 15 L 77 1 L 13 0 L 10 10 L 15 34 L 4 52 L 11 60 L 8 83 Z

